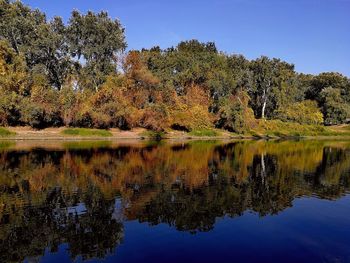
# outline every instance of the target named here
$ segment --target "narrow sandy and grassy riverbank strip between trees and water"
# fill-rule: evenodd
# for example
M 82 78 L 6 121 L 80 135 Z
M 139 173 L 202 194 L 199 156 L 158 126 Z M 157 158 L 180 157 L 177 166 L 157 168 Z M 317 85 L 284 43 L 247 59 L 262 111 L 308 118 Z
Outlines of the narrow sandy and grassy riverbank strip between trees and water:
M 294 125 L 294 124 L 288 124 Z M 157 133 L 142 128 L 129 131 L 119 129 L 97 130 L 80 128 L 46 128 L 36 130 L 31 127 L 0 128 L 1 140 L 143 140 L 143 139 L 273 139 L 273 138 L 348 138 L 350 139 L 350 126 L 312 127 L 312 126 L 286 126 L 278 125 L 259 126 L 249 134 L 236 134 L 224 130 L 197 130 L 192 132 L 169 130 Z

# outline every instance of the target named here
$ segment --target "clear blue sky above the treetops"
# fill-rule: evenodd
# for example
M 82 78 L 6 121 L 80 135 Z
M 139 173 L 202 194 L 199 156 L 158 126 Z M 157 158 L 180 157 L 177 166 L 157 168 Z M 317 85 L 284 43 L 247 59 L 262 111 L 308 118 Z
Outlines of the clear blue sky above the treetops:
M 298 72 L 350 77 L 350 0 L 23 0 L 48 18 L 108 11 L 128 49 L 214 41 L 220 51 L 295 64 Z

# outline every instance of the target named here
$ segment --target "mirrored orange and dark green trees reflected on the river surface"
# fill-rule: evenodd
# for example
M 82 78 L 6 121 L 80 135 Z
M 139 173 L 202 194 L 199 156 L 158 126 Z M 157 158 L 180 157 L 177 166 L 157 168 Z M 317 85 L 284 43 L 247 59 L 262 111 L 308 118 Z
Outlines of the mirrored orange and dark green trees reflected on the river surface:
M 349 186 L 346 142 L 6 144 L 0 261 L 63 243 L 72 259 L 104 258 L 122 242 L 125 220 L 210 231 L 223 216 L 273 215 L 295 198 L 337 199 Z

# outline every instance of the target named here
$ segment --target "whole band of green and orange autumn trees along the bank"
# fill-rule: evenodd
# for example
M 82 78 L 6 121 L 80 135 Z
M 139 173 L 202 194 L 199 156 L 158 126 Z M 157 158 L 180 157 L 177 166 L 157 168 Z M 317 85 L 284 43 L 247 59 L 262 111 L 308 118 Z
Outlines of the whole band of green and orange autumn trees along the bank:
M 0 0 L 0 126 L 224 129 L 350 120 L 350 79 L 310 75 L 278 58 L 249 60 L 215 43 L 128 50 L 107 12 L 48 19 Z

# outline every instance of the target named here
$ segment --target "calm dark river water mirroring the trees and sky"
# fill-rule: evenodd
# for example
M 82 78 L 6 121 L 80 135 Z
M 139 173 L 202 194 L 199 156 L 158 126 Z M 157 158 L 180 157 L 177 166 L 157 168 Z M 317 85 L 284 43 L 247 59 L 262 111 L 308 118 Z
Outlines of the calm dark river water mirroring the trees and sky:
M 0 262 L 350 262 L 350 142 L 0 142 Z

